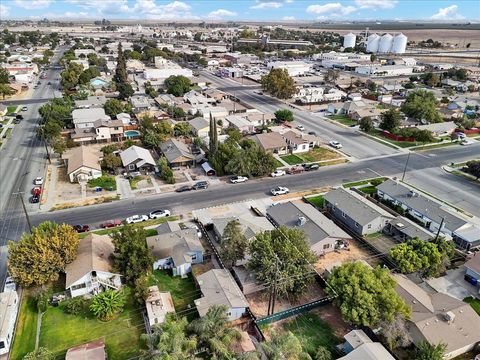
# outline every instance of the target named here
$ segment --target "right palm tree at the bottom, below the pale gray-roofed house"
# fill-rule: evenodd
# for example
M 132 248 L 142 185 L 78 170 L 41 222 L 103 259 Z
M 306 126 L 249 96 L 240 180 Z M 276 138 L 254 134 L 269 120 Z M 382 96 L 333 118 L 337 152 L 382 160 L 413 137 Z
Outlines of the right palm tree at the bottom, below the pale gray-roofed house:
M 232 358 L 230 344 L 242 337 L 238 330 L 227 327 L 227 310 L 225 305 L 212 306 L 204 317 L 190 324 L 190 330 L 197 335 L 199 345 L 205 347 L 214 359 Z

